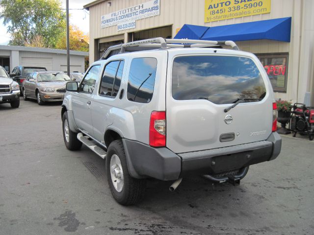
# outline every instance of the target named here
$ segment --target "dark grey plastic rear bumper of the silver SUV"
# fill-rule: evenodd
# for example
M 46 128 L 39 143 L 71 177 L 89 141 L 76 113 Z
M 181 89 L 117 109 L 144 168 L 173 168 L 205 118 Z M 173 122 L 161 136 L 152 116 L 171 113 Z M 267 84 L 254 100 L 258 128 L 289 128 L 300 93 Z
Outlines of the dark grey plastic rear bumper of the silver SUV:
M 218 174 L 271 161 L 281 150 L 281 137 L 272 133 L 266 141 L 175 154 L 168 148 L 153 148 L 123 139 L 132 177 L 176 180 L 190 174 Z

